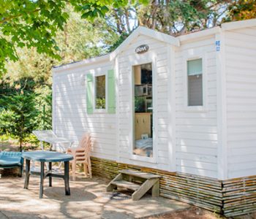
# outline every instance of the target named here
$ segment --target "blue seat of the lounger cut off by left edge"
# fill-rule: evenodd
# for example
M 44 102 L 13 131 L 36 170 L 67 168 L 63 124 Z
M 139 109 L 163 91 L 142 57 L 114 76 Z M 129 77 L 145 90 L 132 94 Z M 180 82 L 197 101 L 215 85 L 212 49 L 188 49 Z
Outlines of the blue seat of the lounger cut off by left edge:
M 0 166 L 20 166 L 21 164 L 20 152 L 3 151 L 0 153 Z

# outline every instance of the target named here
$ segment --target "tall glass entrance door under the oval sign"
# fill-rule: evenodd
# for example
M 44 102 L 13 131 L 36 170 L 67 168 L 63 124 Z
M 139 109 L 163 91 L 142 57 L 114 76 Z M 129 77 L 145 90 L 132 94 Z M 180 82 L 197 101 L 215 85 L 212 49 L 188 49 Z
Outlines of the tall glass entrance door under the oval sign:
M 153 157 L 152 64 L 133 67 L 134 147 L 133 154 Z

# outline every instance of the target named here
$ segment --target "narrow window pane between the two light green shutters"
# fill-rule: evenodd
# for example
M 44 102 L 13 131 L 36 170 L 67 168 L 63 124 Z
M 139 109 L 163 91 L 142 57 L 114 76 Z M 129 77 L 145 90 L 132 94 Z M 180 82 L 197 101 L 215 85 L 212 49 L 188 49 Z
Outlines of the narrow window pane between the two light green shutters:
M 106 77 L 105 75 L 95 77 L 95 109 L 106 109 Z

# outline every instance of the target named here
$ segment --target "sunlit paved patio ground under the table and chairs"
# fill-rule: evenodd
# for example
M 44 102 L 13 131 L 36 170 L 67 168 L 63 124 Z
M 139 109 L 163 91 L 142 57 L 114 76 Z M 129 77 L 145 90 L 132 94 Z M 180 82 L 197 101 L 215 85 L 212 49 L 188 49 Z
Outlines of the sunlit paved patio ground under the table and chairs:
M 53 187 L 45 180 L 44 198 L 39 199 L 39 177 L 32 175 L 29 190 L 24 178 L 0 177 L 0 218 L 148 218 L 189 207 L 179 201 L 151 198 L 140 201 L 117 200 L 106 193 L 108 180 L 79 177 L 70 181 L 71 196 L 64 195 L 64 181 L 53 178 Z

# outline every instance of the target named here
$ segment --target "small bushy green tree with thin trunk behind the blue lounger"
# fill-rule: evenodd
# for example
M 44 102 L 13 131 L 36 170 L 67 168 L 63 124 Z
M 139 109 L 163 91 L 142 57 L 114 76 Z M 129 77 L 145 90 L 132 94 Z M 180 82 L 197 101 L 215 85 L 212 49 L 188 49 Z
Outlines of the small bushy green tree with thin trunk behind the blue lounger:
M 1 96 L 1 132 L 17 137 L 22 150 L 23 141 L 37 126 L 34 94 L 15 93 Z

